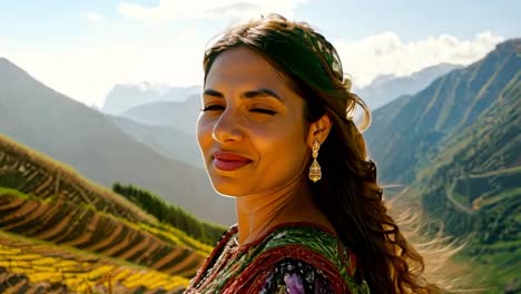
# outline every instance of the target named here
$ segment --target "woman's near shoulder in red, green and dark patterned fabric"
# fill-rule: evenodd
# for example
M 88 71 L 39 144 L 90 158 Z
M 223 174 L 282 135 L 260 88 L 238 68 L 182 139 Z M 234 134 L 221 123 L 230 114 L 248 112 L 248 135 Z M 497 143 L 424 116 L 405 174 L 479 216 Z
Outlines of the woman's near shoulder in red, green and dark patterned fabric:
M 255 293 L 364 293 L 352 278 L 354 256 L 322 227 L 285 225 L 268 234 L 255 252 L 242 274 L 254 277 L 249 282 Z

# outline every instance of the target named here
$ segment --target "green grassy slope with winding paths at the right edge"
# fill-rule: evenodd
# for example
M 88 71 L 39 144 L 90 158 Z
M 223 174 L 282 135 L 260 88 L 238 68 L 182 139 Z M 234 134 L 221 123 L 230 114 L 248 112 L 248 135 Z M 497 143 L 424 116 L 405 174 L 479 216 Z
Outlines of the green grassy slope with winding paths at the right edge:
M 520 96 L 518 74 L 475 124 L 443 141 L 414 184 L 451 234 L 470 233 L 464 256 L 494 287 L 490 293 L 521 277 Z

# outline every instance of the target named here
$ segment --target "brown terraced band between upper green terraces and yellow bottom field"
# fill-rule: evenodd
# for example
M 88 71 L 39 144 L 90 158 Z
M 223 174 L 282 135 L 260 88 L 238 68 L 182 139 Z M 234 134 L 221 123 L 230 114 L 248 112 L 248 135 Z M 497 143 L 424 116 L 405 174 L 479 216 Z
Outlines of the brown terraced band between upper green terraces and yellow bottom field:
M 69 202 L 23 198 L 7 189 L 0 190 L 0 229 L 186 277 L 196 273 L 205 257 L 200 251 L 161 239 L 124 219 Z

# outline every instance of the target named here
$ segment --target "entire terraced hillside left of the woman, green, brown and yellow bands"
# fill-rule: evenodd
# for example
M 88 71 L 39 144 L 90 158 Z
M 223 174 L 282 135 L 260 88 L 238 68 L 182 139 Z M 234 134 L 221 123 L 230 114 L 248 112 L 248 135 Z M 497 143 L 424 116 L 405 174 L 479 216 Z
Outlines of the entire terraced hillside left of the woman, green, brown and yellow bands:
M 210 251 L 0 135 L 0 293 L 181 293 Z

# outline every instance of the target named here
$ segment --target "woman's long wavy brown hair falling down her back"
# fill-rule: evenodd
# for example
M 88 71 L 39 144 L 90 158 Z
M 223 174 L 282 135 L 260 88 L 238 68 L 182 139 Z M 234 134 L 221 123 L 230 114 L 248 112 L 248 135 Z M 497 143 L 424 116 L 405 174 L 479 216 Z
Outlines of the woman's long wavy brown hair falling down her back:
M 321 146 L 323 177 L 312 185 L 314 200 L 357 257 L 356 278 L 373 293 L 438 293 L 423 277 L 424 261 L 389 215 L 361 134 L 370 122 L 364 101 L 351 92 L 334 47 L 307 23 L 271 14 L 230 28 L 204 57 L 206 76 L 219 53 L 247 47 L 266 58 L 305 100 L 305 118 L 326 114 L 333 127 Z M 357 127 L 352 112 L 364 119 Z

